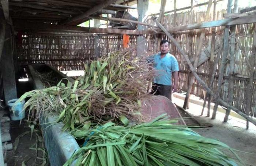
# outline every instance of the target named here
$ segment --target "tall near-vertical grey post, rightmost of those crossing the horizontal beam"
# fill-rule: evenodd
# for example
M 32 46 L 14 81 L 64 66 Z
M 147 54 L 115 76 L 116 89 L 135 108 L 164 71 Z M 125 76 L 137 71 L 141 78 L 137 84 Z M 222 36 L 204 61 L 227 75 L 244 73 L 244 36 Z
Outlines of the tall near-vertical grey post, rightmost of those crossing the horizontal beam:
M 234 2 L 233 13 L 238 12 L 238 0 Z M 233 95 L 234 95 L 234 76 L 235 76 L 235 48 L 236 48 L 236 25 L 230 26 L 230 54 L 229 54 L 229 94 L 228 94 L 228 103 L 233 105 Z M 230 108 L 227 108 L 226 115 L 224 117 L 224 122 L 227 122 L 229 119 Z

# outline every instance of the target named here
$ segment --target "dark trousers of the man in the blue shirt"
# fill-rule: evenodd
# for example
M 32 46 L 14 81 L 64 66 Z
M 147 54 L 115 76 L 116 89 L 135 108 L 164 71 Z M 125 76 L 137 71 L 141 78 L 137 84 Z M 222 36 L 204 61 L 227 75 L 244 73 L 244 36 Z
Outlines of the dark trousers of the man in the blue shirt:
M 165 96 L 172 101 L 172 86 L 153 83 L 150 94 Z

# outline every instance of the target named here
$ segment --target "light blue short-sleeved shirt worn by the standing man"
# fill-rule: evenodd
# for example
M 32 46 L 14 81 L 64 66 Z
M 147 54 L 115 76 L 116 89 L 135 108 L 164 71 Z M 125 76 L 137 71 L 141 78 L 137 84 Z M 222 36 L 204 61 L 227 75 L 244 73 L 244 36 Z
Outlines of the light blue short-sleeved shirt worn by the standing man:
M 153 63 L 157 70 L 157 76 L 154 78 L 154 83 L 162 85 L 172 85 L 172 72 L 179 71 L 177 59 L 170 53 L 161 59 L 161 53 L 157 53 L 147 57 L 149 63 Z

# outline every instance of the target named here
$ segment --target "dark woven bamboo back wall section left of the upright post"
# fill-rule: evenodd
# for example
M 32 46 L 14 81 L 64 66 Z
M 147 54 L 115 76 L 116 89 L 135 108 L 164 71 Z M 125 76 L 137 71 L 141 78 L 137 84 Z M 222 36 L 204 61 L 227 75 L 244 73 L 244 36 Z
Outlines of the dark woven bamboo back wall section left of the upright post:
M 94 59 L 93 37 L 23 34 L 18 46 L 19 64 L 50 64 L 61 71 L 83 70 Z

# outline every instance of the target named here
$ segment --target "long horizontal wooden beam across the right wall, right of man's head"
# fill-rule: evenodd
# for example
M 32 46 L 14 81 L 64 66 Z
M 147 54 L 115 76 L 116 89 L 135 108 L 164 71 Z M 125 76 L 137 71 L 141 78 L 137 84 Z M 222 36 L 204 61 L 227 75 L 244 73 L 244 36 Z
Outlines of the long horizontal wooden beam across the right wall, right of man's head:
M 202 22 L 202 23 L 183 25 L 183 26 L 177 26 L 177 27 L 170 27 L 168 31 L 172 33 L 176 31 L 202 29 L 202 28 L 218 27 L 218 26 L 229 26 L 229 25 L 237 25 L 237 24 L 249 24 L 249 23 L 256 23 L 255 15 L 210 21 L 210 22 Z

